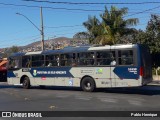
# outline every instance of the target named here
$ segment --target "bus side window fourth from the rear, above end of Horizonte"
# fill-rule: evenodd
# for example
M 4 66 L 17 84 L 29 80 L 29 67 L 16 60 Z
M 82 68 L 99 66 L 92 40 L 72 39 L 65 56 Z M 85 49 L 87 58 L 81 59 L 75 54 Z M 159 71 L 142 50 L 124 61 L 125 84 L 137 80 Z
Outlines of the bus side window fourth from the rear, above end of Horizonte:
M 75 64 L 74 53 L 61 54 L 61 66 L 72 66 L 72 64 Z

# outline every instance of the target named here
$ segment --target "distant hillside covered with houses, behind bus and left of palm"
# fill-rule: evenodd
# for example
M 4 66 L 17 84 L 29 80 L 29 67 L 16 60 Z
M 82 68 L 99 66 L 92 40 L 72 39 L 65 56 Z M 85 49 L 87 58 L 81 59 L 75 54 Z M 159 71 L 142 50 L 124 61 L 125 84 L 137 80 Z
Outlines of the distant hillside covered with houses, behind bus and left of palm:
M 67 38 L 67 37 L 58 37 L 54 39 L 49 39 L 44 41 L 44 48 L 45 50 L 52 50 L 52 49 L 61 49 L 66 46 L 70 45 L 82 45 L 82 44 L 88 44 L 88 40 L 78 40 L 73 38 Z M 41 51 L 42 50 L 42 44 L 41 41 L 33 42 L 25 46 L 18 46 L 19 52 L 33 52 L 33 51 Z M 12 47 L 12 46 L 11 46 Z M 10 53 L 12 50 L 10 48 L 1 48 L 0 53 Z M 2 55 L 0 55 L 2 56 Z

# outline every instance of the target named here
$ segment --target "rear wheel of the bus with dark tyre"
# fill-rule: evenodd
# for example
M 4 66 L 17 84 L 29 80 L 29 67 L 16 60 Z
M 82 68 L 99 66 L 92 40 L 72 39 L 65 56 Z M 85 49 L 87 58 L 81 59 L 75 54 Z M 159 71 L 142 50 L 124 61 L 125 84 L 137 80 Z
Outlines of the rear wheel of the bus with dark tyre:
M 92 78 L 90 77 L 85 77 L 83 78 L 82 82 L 81 82 L 81 87 L 83 89 L 83 91 L 86 92 L 93 92 L 95 90 L 95 82 Z

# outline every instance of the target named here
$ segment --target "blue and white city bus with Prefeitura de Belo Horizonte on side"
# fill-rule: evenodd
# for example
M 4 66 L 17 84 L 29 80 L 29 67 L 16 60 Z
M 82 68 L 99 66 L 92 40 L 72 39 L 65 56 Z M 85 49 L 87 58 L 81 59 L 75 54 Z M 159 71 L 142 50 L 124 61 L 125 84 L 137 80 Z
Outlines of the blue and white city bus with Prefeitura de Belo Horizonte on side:
M 141 44 L 76 46 L 14 53 L 8 58 L 8 84 L 96 88 L 137 87 L 152 81 L 149 48 Z

